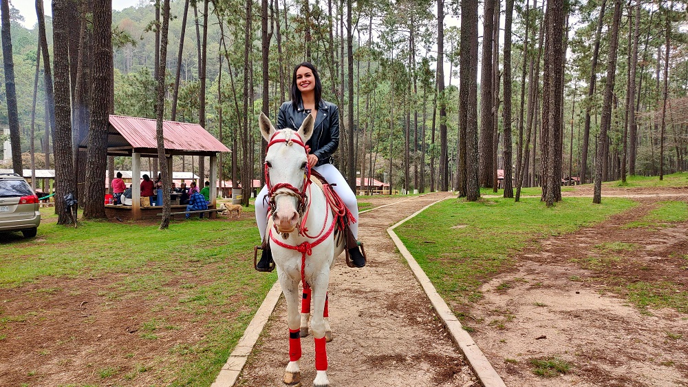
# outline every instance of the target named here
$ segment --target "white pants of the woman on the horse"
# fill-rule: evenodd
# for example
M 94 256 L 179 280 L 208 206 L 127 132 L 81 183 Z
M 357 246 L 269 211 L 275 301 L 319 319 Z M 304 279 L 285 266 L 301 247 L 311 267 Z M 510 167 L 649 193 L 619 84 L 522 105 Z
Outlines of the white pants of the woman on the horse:
M 349 223 L 354 238 L 358 239 L 358 202 L 356 202 L 356 194 L 351 190 L 349 184 L 342 176 L 339 169 L 332 164 L 323 164 L 319 167 L 313 167 L 319 174 L 323 175 L 325 180 L 334 185 L 334 191 L 339 195 L 347 209 L 354 215 L 356 222 Z M 268 186 L 266 185 L 260 190 L 256 196 L 256 223 L 258 224 L 258 231 L 260 231 L 260 240 L 265 238 L 265 231 L 268 228 L 268 205 L 265 196 L 268 194 Z

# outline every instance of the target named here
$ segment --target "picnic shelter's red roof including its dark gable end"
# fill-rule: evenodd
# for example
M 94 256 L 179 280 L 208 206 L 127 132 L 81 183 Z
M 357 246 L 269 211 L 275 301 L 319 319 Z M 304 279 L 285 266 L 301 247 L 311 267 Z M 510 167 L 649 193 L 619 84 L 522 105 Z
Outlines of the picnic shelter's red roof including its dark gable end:
M 150 118 L 114 116 L 109 118 L 107 154 L 109 156 L 158 153 L 156 134 L 157 121 Z M 201 125 L 163 121 L 166 154 L 196 154 L 210 156 L 217 152 L 230 151 Z M 79 143 L 80 148 L 88 146 L 88 138 Z

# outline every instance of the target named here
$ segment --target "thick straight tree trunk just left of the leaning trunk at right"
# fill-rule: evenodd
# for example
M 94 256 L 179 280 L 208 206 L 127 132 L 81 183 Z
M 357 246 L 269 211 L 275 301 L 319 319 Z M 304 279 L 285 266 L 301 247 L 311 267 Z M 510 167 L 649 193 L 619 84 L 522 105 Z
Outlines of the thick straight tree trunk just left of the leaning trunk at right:
M 547 39 L 545 42 L 544 86 L 542 96 L 542 140 L 546 145 L 546 154 L 542 155 L 547 160 L 547 182 L 543 187 L 545 202 L 548 206 L 554 205 L 557 198 L 561 197 L 561 110 L 563 93 L 563 26 L 566 16 L 564 14 L 563 0 L 548 0 L 546 28 Z M 558 160 L 558 162 L 557 162 Z M 544 177 L 544 176 L 543 176 Z

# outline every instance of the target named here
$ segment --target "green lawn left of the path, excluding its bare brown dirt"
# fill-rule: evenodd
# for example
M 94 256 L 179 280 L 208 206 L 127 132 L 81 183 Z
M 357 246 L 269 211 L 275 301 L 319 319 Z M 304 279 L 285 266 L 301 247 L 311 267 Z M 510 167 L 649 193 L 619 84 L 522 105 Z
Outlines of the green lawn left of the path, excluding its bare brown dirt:
M 81 222 L 73 229 L 56 224 L 54 209 L 41 213 L 36 238 L 0 234 L 0 291 L 6 297 L 27 285 L 40 291 L 44 282 L 50 283 L 54 288 L 46 292 L 61 294 L 67 283 L 104 279 L 107 286 L 98 295 L 107 300 L 107 310 L 147 306 L 141 311 L 146 317 L 131 316 L 133 321 L 144 319 L 137 323 L 139 333 L 133 339 L 155 342 L 182 326 L 194 331 L 173 348 L 159 342 L 160 351 L 147 364 L 96 366 L 96 375 L 103 368 L 100 378 L 108 385 L 137 385 L 144 369 L 164 385 L 209 386 L 277 279 L 276 273 L 253 269 L 253 246 L 259 238 L 252 218 L 174 221 L 165 231 L 158 224 L 97 221 Z M 32 313 L 45 318 L 45 311 L 28 311 L 26 321 Z M 3 340 L 19 334 L 16 329 L 23 325 L 19 317 L 0 307 Z

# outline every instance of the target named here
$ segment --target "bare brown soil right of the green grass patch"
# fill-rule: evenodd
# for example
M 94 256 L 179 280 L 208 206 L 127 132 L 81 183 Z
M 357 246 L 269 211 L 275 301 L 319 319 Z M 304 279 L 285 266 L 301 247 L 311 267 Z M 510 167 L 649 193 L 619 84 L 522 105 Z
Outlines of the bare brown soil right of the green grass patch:
M 565 196 L 592 194 L 589 186 Z M 688 315 L 638 308 L 627 284 L 671 280 L 688 291 L 688 222 L 622 228 L 659 200 L 688 201 L 687 189 L 605 189 L 640 205 L 603 224 L 541 241 L 513 271 L 482 287 L 465 324 L 508 386 L 688 386 Z M 623 242 L 632 249 L 601 249 Z M 581 262 L 605 262 L 599 267 Z M 530 359 L 559 357 L 572 369 L 544 379 Z

